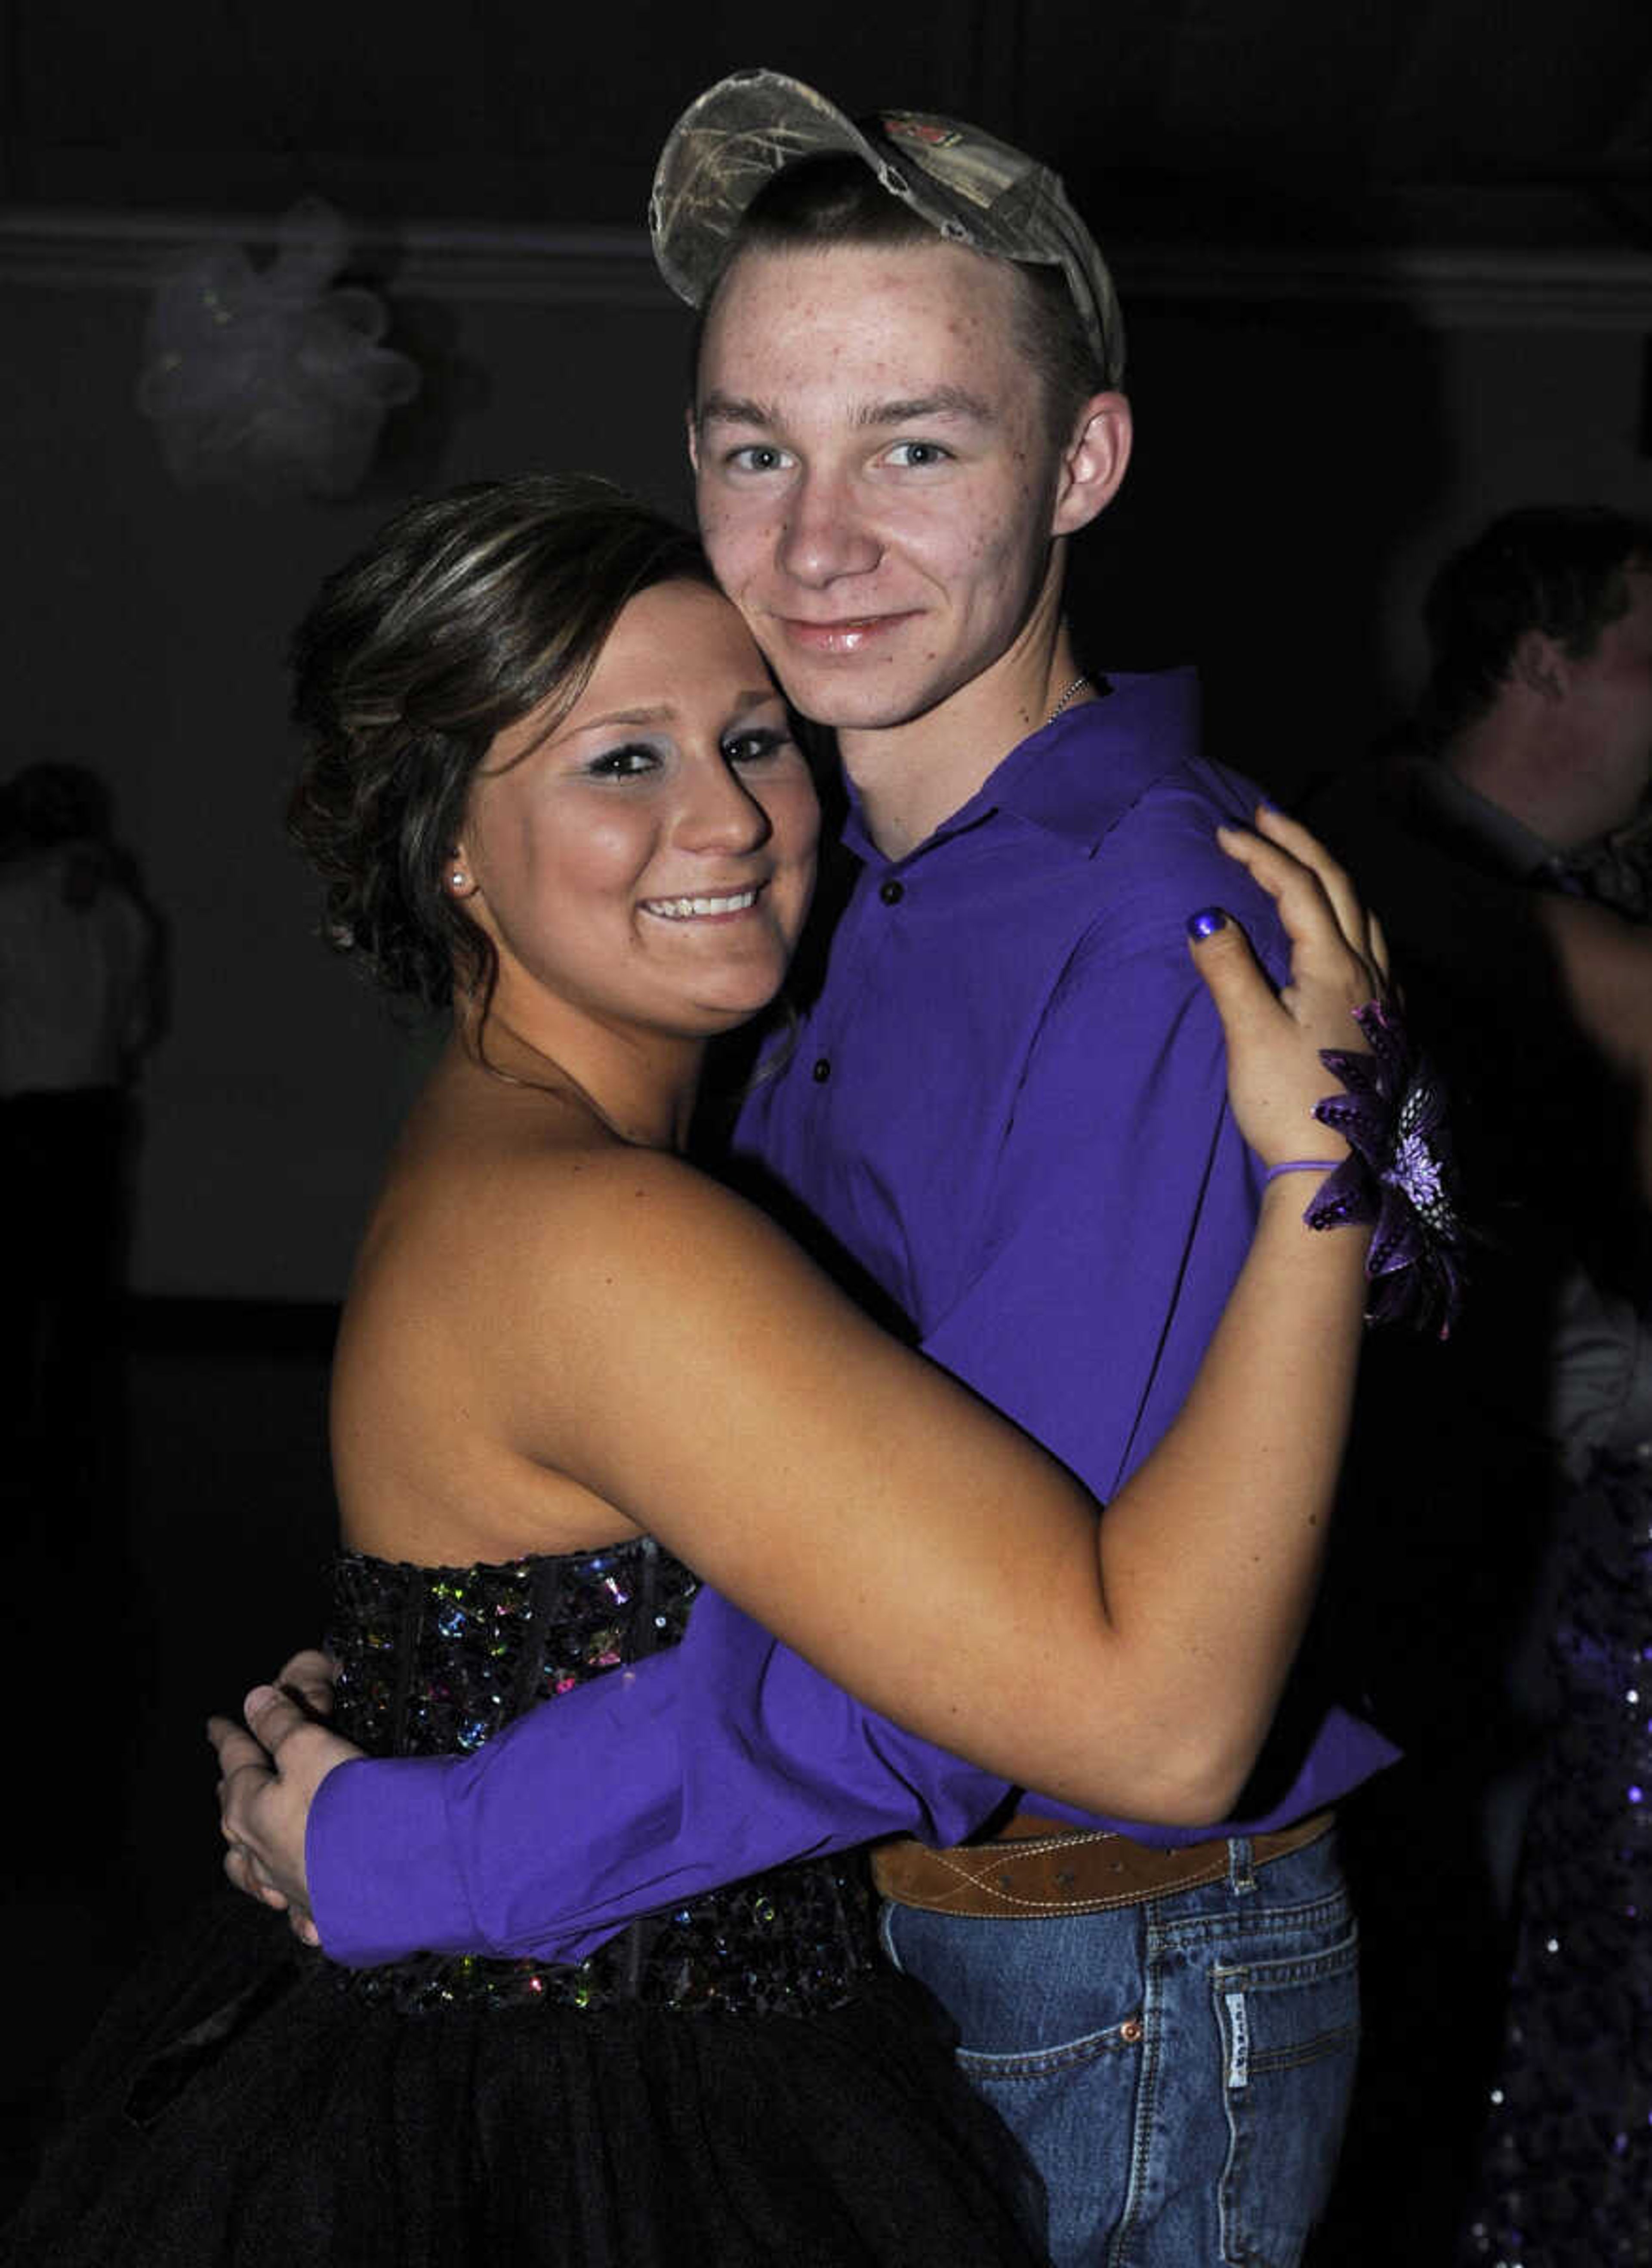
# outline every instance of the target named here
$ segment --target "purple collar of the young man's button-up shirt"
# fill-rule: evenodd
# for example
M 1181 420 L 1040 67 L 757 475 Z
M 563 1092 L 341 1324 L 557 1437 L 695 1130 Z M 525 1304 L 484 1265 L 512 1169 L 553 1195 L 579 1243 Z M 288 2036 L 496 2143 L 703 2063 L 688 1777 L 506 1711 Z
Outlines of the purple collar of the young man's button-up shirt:
M 844 844 L 871 866 L 896 866 L 994 812 L 1012 812 L 1089 855 L 1155 780 L 1198 753 L 1196 671 L 1121 671 L 1098 678 L 1096 689 L 1098 701 L 1017 742 L 969 803 L 903 860 L 887 860 L 871 841 L 849 780 Z

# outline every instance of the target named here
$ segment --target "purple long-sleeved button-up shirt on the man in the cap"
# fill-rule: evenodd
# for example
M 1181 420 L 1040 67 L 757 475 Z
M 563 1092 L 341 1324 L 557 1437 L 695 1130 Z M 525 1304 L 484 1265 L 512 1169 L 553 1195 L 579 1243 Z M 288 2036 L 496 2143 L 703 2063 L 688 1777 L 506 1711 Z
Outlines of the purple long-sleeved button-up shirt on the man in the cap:
M 1185 921 L 1230 907 L 1280 971 L 1273 909 L 1212 835 L 1253 801 L 1198 758 L 1194 678 L 1171 671 L 1114 678 L 1021 742 L 899 862 L 851 814 L 865 871 L 826 987 L 740 1120 L 738 1157 L 1101 1499 L 1180 1408 L 1250 1243 L 1255 1166 Z M 1341 1708 L 1293 1717 L 1246 1828 L 1393 1758 Z M 640 1912 L 785 1857 L 901 1828 L 955 1842 L 1005 1794 L 703 1592 L 678 1649 L 472 1758 L 334 1771 L 311 1898 L 347 1962 L 579 1960 Z

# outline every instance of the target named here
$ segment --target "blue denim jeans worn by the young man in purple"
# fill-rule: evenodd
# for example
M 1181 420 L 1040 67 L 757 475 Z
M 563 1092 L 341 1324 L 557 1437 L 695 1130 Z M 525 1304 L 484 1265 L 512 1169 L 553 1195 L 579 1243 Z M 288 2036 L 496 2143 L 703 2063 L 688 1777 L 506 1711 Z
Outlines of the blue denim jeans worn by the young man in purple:
M 1334 1835 L 1103 1914 L 885 1905 L 883 1944 L 1051 2202 L 1057 2268 L 1293 2268 L 1325 2207 L 1359 2046 Z

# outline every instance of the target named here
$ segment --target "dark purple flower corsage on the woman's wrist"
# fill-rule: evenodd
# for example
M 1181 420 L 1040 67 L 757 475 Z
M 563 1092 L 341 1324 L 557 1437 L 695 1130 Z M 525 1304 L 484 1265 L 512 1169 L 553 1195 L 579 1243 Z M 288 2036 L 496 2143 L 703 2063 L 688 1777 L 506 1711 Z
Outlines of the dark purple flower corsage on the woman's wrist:
M 1439 1077 L 1405 1034 L 1396 1009 L 1371 1000 L 1355 1009 L 1371 1055 L 1321 1048 L 1321 1064 L 1346 1086 L 1314 1105 L 1321 1125 L 1348 1143 L 1303 1213 L 1309 1229 L 1368 1220 L 1366 1275 L 1371 1322 L 1405 1320 L 1450 1336 L 1461 1304 L 1464 1229 L 1452 1204 L 1450 1127 Z

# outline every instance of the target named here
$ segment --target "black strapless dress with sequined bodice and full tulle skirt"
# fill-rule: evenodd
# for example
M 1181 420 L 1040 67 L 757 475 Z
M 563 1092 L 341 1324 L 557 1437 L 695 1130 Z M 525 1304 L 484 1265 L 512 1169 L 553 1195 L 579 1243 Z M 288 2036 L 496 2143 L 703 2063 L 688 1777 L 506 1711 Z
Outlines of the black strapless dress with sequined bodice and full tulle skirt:
M 672 1644 L 692 1592 L 651 1542 L 345 1556 L 340 1728 L 381 1755 L 474 1749 Z M 116 1996 L 0 2257 L 1026 2268 L 1030 2193 L 939 2012 L 878 1964 L 853 1855 L 649 1916 L 576 1969 L 338 1969 L 225 1892 Z

